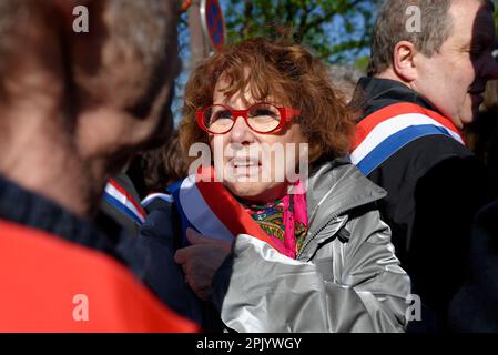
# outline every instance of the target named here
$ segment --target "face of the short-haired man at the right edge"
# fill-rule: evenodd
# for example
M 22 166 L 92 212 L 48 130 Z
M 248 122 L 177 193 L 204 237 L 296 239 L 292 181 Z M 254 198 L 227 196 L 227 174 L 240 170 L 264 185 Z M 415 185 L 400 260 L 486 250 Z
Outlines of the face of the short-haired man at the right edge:
M 497 40 L 492 14 L 478 1 L 453 1 L 449 17 L 451 34 L 439 52 L 415 55 L 417 79 L 410 85 L 461 129 L 477 116 L 486 82 L 498 78 L 491 55 Z

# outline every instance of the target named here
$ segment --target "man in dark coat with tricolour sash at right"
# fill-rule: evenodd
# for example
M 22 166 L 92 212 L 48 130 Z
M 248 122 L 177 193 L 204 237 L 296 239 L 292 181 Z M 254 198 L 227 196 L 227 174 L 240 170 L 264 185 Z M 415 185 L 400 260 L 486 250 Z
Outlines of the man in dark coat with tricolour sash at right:
M 419 10 L 419 29 L 409 7 Z M 386 0 L 368 78 L 353 100 L 363 114 L 352 161 L 386 189 L 379 210 L 413 292 L 428 307 L 414 331 L 446 328 L 465 275 L 482 178 L 461 129 L 498 77 L 492 11 L 486 0 Z

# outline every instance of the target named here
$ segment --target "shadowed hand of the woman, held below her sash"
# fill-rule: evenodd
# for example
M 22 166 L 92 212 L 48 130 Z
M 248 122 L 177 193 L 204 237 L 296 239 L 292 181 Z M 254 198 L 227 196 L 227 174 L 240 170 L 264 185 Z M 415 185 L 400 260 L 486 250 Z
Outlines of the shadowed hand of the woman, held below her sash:
M 211 291 L 214 274 L 232 250 L 232 243 L 204 236 L 193 229 L 186 230 L 190 246 L 179 250 L 174 261 L 185 273 L 185 282 L 204 301 Z

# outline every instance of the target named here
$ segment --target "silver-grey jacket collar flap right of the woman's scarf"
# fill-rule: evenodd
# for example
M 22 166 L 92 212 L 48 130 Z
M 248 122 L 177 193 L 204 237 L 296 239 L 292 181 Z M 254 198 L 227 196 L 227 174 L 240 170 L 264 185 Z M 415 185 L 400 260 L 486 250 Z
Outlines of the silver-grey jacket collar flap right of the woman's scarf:
M 307 211 L 309 234 L 334 216 L 380 200 L 386 191 L 369 181 L 347 159 L 323 164 L 308 179 Z

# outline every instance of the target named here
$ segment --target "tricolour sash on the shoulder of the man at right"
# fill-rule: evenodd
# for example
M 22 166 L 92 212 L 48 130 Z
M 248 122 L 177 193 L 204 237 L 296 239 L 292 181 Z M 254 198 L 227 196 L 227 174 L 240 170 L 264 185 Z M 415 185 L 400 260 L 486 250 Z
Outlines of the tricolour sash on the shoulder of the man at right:
M 449 119 L 414 103 L 395 103 L 356 125 L 350 160 L 368 175 L 409 142 L 435 134 L 450 136 L 465 145 L 464 138 Z

